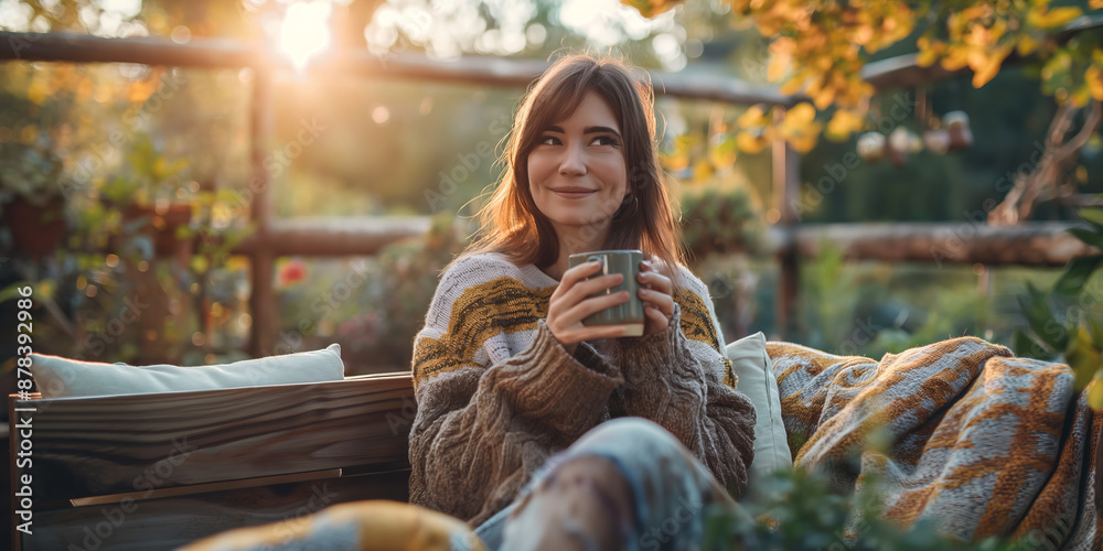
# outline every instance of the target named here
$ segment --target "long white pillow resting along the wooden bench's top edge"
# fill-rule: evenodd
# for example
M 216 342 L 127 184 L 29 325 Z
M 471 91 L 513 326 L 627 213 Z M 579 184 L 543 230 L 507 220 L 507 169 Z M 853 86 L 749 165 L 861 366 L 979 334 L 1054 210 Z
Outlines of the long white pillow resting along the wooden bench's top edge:
M 338 344 L 321 350 L 195 367 L 138 367 L 31 354 L 31 375 L 43 398 L 78 398 L 333 381 L 344 378 L 344 363 Z

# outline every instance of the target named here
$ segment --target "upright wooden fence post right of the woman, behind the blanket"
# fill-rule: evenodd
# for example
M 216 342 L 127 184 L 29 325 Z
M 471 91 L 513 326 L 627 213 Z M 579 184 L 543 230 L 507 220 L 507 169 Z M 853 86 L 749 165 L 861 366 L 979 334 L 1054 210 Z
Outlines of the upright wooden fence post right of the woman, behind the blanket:
M 774 110 L 774 123 L 785 117 L 783 108 Z M 785 233 L 784 246 L 778 250 L 780 280 L 778 281 L 778 305 L 775 331 L 779 338 L 791 338 L 800 323 L 796 315 L 796 300 L 800 293 L 800 269 L 796 262 L 796 212 L 799 193 L 800 158 L 783 139 L 773 142 L 773 208 L 778 210 L 777 225 Z

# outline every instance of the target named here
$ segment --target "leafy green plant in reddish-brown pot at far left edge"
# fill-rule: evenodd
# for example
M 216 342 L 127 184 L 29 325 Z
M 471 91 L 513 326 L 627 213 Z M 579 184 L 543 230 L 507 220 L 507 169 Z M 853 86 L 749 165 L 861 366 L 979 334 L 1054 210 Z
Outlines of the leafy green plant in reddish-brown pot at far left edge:
M 62 159 L 44 136 L 0 149 L 0 213 L 17 255 L 52 255 L 65 237 Z

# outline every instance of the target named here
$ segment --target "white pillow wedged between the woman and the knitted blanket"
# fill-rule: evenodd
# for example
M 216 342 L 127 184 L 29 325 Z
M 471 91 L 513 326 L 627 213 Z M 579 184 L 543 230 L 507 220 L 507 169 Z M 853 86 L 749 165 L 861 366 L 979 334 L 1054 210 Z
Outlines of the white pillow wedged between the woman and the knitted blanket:
M 785 425 L 781 421 L 781 393 L 770 369 L 765 335 L 758 332 L 725 348 L 731 370 L 739 377 L 738 390 L 754 404 L 754 461 L 748 478 L 763 479 L 778 469 L 793 468 Z

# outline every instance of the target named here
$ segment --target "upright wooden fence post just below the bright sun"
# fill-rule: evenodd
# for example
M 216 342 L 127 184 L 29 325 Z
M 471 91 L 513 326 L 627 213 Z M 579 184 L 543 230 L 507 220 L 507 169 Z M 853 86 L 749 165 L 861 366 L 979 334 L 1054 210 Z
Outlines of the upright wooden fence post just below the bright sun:
M 274 131 L 275 102 L 272 101 L 272 75 L 267 67 L 255 67 L 253 76 L 253 98 L 249 118 L 249 162 L 253 165 L 253 180 L 249 190 L 253 193 L 250 216 L 256 223 L 256 238 L 259 247 L 250 255 L 253 289 L 249 293 L 249 312 L 253 324 L 249 326 L 249 355 L 254 358 L 272 354 L 278 316 L 276 313 L 276 295 L 272 289 L 276 258 L 271 249 L 272 217 L 275 203 L 272 201 L 271 174 L 264 166 L 264 159 L 269 152 Z

